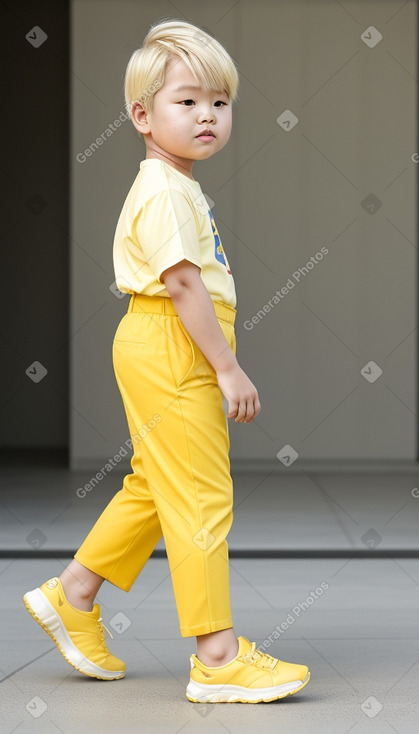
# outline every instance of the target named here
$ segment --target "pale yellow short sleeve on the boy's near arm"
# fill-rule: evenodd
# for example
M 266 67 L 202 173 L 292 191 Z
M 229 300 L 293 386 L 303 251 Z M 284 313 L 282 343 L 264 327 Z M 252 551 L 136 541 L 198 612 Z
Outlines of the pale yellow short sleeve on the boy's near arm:
M 159 283 L 162 272 L 181 260 L 202 268 L 194 211 L 177 189 L 164 189 L 150 197 L 141 207 L 135 231 Z

